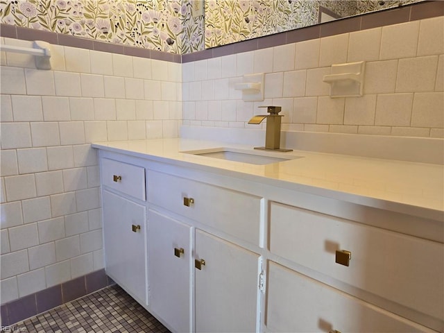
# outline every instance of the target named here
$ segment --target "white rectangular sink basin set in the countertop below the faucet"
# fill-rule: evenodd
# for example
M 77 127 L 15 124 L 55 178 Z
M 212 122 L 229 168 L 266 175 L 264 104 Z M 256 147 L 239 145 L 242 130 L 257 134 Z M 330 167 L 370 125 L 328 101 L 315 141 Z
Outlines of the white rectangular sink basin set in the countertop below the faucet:
M 294 160 L 303 156 L 284 155 L 285 153 L 275 153 L 268 151 L 248 151 L 236 148 L 212 148 L 201 149 L 198 151 L 182 151 L 182 153 L 199 155 L 205 157 L 219 158 L 221 160 L 229 160 L 235 162 L 249 164 L 271 164 Z

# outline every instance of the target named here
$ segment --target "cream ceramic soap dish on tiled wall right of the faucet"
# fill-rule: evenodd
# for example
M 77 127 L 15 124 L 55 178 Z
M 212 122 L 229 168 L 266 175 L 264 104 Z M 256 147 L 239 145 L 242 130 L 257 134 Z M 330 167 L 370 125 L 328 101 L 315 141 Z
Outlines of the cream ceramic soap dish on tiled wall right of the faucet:
M 332 74 L 323 77 L 323 82 L 330 84 L 330 96 L 332 98 L 362 96 L 365 65 L 364 61 L 332 65 Z

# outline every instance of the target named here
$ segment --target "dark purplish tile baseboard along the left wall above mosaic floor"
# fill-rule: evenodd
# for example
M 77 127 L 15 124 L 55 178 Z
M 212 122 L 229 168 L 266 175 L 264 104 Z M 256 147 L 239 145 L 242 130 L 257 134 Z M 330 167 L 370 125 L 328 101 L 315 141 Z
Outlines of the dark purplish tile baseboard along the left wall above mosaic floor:
M 105 274 L 105 269 L 101 269 L 12 300 L 1 305 L 1 327 L 13 325 L 112 284 L 115 282 Z

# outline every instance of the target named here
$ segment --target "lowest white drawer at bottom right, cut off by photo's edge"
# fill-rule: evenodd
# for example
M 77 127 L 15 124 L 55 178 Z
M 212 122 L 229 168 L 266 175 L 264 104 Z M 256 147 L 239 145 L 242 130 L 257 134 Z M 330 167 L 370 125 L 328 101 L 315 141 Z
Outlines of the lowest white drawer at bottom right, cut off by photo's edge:
M 268 262 L 270 332 L 432 332 L 321 282 Z

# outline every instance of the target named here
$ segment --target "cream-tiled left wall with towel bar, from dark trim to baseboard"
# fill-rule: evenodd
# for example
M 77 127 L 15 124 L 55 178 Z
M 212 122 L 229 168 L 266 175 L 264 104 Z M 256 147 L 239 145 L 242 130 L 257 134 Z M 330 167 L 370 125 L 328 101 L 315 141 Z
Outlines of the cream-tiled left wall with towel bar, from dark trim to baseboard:
M 177 137 L 182 121 L 181 64 L 58 45 L 51 56 L 42 71 L 1 54 L 2 304 L 103 268 L 90 143 Z

